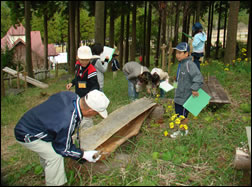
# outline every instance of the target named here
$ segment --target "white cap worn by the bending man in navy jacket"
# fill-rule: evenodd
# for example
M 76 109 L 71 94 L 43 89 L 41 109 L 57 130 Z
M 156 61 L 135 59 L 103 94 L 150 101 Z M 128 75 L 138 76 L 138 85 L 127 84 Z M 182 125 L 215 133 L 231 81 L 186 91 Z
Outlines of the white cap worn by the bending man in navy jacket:
M 99 90 L 92 90 L 85 96 L 87 105 L 98 112 L 103 118 L 108 116 L 107 107 L 109 105 L 109 99 L 106 95 Z

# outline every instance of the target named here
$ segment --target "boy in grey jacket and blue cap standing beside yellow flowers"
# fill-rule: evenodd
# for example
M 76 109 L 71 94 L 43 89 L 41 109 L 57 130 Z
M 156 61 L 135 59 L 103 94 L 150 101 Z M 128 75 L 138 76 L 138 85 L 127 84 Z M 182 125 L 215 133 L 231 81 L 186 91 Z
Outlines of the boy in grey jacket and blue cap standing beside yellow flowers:
M 174 49 L 176 49 L 176 58 L 179 61 L 176 77 L 177 88 L 174 96 L 175 112 L 179 116 L 185 117 L 181 124 L 187 124 L 189 111 L 183 107 L 183 104 L 191 95 L 199 96 L 198 90 L 203 84 L 203 76 L 192 62 L 192 57 L 188 56 L 190 47 L 186 42 L 179 43 Z

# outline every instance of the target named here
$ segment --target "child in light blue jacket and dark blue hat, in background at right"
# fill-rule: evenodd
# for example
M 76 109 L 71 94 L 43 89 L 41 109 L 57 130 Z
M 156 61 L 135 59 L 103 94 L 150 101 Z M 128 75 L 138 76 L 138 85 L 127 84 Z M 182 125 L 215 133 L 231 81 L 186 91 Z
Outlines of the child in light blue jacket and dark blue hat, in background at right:
M 203 31 L 202 25 L 197 22 L 192 27 L 193 31 L 193 61 L 200 70 L 200 58 L 204 56 L 205 42 L 207 40 L 206 33 Z

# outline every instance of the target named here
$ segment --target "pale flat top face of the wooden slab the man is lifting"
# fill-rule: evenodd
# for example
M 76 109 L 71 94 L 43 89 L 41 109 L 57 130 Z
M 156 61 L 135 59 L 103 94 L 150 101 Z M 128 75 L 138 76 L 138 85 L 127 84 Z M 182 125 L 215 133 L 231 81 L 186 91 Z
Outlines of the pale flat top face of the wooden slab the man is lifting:
M 155 105 L 156 103 L 153 103 L 151 99 L 144 97 L 115 110 L 99 124 L 80 131 L 81 148 L 96 149 L 121 128 Z

